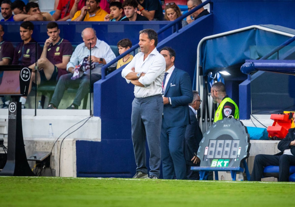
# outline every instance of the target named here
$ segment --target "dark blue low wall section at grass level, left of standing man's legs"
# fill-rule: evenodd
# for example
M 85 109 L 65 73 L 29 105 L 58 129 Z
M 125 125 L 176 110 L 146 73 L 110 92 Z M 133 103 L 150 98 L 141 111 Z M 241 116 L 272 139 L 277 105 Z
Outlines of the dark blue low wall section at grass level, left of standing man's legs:
M 76 141 L 77 177 L 132 177 L 136 172 L 132 141 Z

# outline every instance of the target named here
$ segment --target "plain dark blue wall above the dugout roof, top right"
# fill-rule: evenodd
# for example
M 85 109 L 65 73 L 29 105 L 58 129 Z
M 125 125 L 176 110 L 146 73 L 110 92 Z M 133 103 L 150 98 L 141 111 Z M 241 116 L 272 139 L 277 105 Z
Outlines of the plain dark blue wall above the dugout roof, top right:
M 247 27 L 273 24 L 295 28 L 292 0 L 212 0 L 213 33 Z

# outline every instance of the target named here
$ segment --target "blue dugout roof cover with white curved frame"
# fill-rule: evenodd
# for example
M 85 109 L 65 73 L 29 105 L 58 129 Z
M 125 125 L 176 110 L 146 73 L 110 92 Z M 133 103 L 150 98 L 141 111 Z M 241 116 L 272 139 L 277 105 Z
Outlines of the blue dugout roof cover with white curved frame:
M 231 70 L 238 78 L 242 75 L 240 67 L 246 59 L 260 59 L 294 35 L 294 29 L 278 25 L 252 25 L 210 35 L 198 44 L 197 66 L 201 66 L 203 75 Z M 294 43 L 289 46 L 294 46 Z M 280 51 L 268 59 L 281 59 L 279 56 L 283 56 L 283 53 L 285 51 Z

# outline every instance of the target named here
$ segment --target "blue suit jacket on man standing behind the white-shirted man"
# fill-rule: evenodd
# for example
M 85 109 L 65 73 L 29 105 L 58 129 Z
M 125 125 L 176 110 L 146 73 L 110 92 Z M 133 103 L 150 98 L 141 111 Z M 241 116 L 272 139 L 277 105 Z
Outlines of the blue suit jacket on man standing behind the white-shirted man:
M 165 104 L 163 118 L 168 127 L 189 124 L 189 103 L 193 101 L 191 78 L 183 70 L 174 68 L 164 92 L 171 98 L 171 104 Z

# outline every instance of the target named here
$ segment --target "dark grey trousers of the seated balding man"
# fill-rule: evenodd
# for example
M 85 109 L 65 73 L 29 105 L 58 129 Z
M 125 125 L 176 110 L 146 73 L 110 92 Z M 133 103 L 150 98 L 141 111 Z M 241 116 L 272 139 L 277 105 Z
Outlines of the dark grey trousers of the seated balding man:
M 80 78 L 76 80 L 71 80 L 71 77 L 73 76 L 72 73 L 68 73 L 65 75 L 60 76 L 53 93 L 53 96 L 51 98 L 50 104 L 55 105 L 58 107 L 61 99 L 63 98 L 63 94 L 65 93 L 65 90 L 68 88 L 78 88 L 76 96 L 74 98 L 73 104 L 76 104 L 77 106 L 81 105 L 81 101 L 84 98 L 84 96 L 89 93 L 90 85 L 90 75 L 82 75 Z M 91 88 L 93 88 L 93 84 L 101 79 L 101 75 L 99 74 L 91 74 Z

